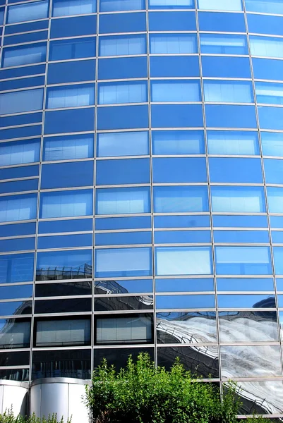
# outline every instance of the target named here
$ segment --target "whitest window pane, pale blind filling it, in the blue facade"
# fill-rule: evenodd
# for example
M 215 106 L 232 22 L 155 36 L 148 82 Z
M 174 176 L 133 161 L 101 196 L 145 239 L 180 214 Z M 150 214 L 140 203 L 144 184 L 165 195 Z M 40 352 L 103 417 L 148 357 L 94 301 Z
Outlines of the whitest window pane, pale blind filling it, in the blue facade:
M 205 275 L 211 274 L 210 247 L 156 247 L 156 274 Z

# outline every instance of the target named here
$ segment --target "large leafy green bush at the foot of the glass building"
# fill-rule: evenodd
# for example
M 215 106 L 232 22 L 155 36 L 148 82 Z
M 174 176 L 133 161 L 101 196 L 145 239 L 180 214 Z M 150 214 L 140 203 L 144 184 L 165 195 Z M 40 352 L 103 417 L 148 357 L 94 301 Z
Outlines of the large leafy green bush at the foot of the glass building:
M 228 383 L 221 398 L 218 386 L 195 381 L 179 360 L 167 371 L 141 353 L 119 372 L 104 359 L 86 386 L 85 404 L 94 423 L 236 423 L 237 392 Z M 255 421 L 262 423 L 245 420 Z

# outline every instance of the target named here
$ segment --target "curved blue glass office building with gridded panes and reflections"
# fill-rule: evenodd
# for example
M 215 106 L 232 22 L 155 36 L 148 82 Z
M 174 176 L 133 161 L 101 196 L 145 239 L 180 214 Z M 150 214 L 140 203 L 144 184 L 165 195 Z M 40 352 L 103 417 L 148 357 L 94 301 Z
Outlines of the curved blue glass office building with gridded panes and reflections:
M 147 351 L 283 416 L 283 1 L 0 5 L 0 379 Z

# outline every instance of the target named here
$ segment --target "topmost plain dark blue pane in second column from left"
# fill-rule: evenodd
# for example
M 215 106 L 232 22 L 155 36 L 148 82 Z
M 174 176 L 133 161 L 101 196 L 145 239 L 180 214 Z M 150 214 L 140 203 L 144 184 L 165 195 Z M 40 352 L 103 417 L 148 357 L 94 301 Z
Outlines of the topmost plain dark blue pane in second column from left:
M 78 37 L 96 33 L 96 15 L 52 19 L 50 38 Z

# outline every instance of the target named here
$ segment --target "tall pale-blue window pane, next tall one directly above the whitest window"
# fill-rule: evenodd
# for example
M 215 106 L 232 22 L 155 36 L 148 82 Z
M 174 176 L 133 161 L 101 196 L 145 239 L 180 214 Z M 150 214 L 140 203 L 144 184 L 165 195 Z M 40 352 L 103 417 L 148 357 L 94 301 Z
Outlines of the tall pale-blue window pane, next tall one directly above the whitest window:
M 207 187 L 154 187 L 155 213 L 208 212 Z

